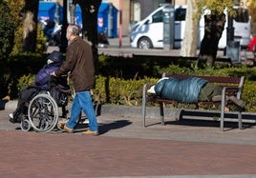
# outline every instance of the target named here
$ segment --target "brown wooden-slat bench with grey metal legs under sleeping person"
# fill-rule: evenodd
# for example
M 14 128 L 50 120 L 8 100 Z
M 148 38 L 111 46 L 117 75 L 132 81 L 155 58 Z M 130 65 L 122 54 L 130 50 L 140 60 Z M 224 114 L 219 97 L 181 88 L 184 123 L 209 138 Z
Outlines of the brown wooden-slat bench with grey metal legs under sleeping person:
M 188 75 L 171 75 L 163 73 L 162 77 L 175 77 L 179 79 L 184 79 L 191 77 Z M 241 99 L 242 90 L 245 83 L 245 76 L 242 77 L 220 77 L 220 76 L 196 76 L 207 80 L 208 82 L 215 83 L 222 88 L 222 101 L 200 101 L 198 104 L 207 104 L 207 105 L 219 105 L 221 106 L 221 118 L 220 118 L 220 129 L 224 130 L 224 112 L 226 105 L 230 104 L 230 101 L 225 101 L 225 96 L 236 96 L 238 99 Z M 164 104 L 178 104 L 177 101 L 168 100 L 158 97 L 155 94 L 148 93 L 147 90 L 155 84 L 144 84 L 142 91 L 142 127 L 146 127 L 146 106 L 148 102 L 153 102 L 160 104 L 160 123 L 164 125 Z M 238 110 L 238 128 L 242 129 L 242 109 Z

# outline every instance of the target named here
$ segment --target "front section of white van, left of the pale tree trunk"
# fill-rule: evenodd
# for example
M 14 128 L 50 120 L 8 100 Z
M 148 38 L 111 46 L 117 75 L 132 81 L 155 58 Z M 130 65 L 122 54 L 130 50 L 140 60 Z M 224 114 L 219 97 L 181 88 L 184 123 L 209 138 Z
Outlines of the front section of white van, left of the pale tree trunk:
M 163 9 L 170 5 L 161 6 L 145 19 L 135 24 L 130 33 L 131 47 L 139 49 L 163 48 Z M 175 8 L 175 44 L 174 48 L 181 48 L 181 41 L 185 28 L 185 6 Z

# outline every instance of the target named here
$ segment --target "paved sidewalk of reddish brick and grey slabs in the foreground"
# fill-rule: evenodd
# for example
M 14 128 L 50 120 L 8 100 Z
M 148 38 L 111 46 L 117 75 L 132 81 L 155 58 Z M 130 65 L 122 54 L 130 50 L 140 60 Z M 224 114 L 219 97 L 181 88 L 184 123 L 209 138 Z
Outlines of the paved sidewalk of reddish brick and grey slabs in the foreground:
M 213 121 L 151 119 L 142 129 L 122 110 L 102 110 L 97 137 L 24 132 L 8 121 L 10 106 L 0 110 L 0 177 L 256 177 L 254 124 L 222 132 Z

